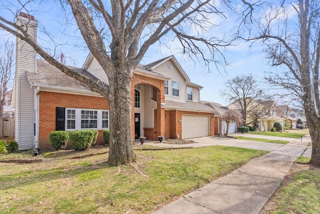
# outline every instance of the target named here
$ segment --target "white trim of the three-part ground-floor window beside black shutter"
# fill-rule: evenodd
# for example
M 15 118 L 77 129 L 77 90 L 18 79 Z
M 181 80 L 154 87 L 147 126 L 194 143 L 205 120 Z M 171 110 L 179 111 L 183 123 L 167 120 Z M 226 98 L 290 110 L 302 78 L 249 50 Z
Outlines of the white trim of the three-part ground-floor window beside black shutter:
M 67 128 L 67 110 L 75 110 L 75 128 Z M 81 110 L 94 110 L 97 111 L 97 127 L 96 128 L 81 128 Z M 108 128 L 102 128 L 102 111 L 108 112 Z M 65 121 L 64 127 L 67 131 L 72 130 L 87 130 L 87 129 L 96 129 L 103 130 L 110 128 L 110 112 L 108 109 L 91 109 L 91 108 L 65 108 Z

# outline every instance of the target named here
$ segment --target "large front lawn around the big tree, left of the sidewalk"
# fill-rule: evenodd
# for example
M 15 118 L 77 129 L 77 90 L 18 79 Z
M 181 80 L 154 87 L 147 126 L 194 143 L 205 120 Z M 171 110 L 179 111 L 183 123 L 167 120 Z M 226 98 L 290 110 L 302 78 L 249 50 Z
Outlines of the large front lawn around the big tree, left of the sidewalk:
M 149 213 L 266 151 L 228 146 L 136 150 L 132 167 L 108 166 L 107 154 L 0 163 L 0 213 Z

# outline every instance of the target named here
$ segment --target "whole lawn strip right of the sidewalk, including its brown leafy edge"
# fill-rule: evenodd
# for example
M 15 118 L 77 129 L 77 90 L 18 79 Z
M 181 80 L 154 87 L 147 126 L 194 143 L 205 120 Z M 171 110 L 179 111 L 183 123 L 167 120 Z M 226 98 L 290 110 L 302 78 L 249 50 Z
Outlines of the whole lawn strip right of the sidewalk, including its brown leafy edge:
M 304 159 L 307 162 L 310 158 Z M 320 168 L 294 163 L 279 189 L 265 204 L 267 213 L 320 213 Z

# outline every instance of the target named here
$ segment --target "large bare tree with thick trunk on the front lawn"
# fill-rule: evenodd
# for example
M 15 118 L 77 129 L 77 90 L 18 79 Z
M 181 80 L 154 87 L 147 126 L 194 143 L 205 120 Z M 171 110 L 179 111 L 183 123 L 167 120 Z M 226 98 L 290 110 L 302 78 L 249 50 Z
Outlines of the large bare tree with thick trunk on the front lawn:
M 219 4 L 224 9 L 230 8 L 229 0 Z M 27 6 L 27 3 L 21 5 L 17 11 L 21 8 L 27 11 Z M 110 109 L 108 162 L 113 165 L 135 160 L 131 145 L 130 85 L 133 72 L 150 45 L 164 35 L 175 36 L 183 53 L 200 57 L 205 64 L 218 65 L 219 57 L 223 59 L 219 48 L 230 44 L 225 35 L 217 38 L 207 33 L 217 26 L 211 22 L 212 17 L 225 18 L 211 0 L 61 0 L 61 6 L 71 8 L 81 35 L 105 71 L 109 85 L 79 75 L 55 60 L 28 34 L 25 25 L 0 16 L 0 28 L 26 41 L 49 63 L 107 98 Z M 190 35 L 191 30 L 195 33 Z M 209 57 L 205 49 L 211 53 Z

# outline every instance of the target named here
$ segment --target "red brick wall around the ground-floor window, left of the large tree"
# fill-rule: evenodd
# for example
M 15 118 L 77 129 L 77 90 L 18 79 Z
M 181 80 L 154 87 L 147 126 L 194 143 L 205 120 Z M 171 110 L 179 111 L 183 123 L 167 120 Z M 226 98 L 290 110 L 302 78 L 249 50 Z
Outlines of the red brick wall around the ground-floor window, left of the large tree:
M 109 104 L 103 97 L 40 91 L 39 148 L 52 148 L 48 135 L 55 130 L 56 107 L 109 109 Z M 102 130 L 99 130 L 96 144 L 103 142 Z

